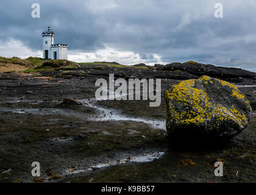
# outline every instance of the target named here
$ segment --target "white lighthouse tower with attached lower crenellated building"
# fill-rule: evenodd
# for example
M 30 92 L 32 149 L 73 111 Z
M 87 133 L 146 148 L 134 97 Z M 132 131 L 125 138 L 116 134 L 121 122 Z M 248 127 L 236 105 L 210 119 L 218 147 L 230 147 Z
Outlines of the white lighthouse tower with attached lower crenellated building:
M 54 32 L 48 27 L 48 31 L 43 31 L 43 59 L 45 60 L 68 60 L 68 45 L 54 44 Z

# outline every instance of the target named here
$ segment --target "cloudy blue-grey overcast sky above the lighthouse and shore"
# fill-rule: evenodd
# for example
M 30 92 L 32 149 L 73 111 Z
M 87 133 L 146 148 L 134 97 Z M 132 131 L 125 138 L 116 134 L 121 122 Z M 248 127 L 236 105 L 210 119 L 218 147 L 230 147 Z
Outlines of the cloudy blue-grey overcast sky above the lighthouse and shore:
M 217 2 L 224 18 L 215 18 Z M 1 0 L 0 24 L 5 57 L 42 57 L 41 32 L 51 26 L 75 62 L 194 60 L 256 72 L 255 0 Z

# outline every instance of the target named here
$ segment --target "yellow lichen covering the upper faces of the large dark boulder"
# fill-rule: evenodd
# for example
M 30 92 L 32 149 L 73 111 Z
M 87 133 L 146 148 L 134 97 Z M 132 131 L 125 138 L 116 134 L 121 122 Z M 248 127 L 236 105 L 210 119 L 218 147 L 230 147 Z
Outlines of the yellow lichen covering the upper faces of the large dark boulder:
M 216 88 L 218 91 L 224 91 L 225 96 L 230 96 L 229 102 L 216 102 L 215 100 L 219 98 L 218 95 L 216 96 L 218 92 L 207 94 L 205 87 L 208 87 L 208 90 Z M 172 85 L 171 89 L 165 91 L 166 128 L 193 125 L 193 127 L 201 126 L 213 130 L 226 122 L 242 130 L 246 127 L 249 118 L 234 105 L 227 105 L 230 104 L 231 97 L 247 105 L 250 112 L 249 102 L 232 83 L 202 76 L 199 79 L 183 80 L 177 85 Z

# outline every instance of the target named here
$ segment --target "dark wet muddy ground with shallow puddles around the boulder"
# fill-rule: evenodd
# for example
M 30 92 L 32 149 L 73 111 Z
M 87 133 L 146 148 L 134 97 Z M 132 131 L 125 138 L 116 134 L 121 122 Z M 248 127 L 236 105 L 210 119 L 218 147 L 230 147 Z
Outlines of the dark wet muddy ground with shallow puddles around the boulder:
M 149 107 L 149 101 L 96 101 L 95 80 L 110 73 L 99 71 L 0 74 L 0 182 L 256 182 L 254 112 L 225 144 L 172 144 L 163 91 L 180 80 L 162 78 L 161 105 Z M 127 77 L 123 72 L 113 70 Z M 255 100 L 254 82 L 235 84 Z M 63 98 L 80 104 L 63 105 Z M 33 161 L 40 162 L 40 177 L 31 176 Z M 216 161 L 224 163 L 224 177 L 214 175 Z

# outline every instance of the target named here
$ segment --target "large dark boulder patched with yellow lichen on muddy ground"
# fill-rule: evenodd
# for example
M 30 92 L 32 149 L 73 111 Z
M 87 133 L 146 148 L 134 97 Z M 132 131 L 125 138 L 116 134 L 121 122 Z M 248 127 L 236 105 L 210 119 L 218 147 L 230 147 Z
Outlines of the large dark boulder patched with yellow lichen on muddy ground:
M 166 129 L 170 137 L 227 140 L 248 124 L 251 106 L 235 85 L 202 76 L 165 91 Z

